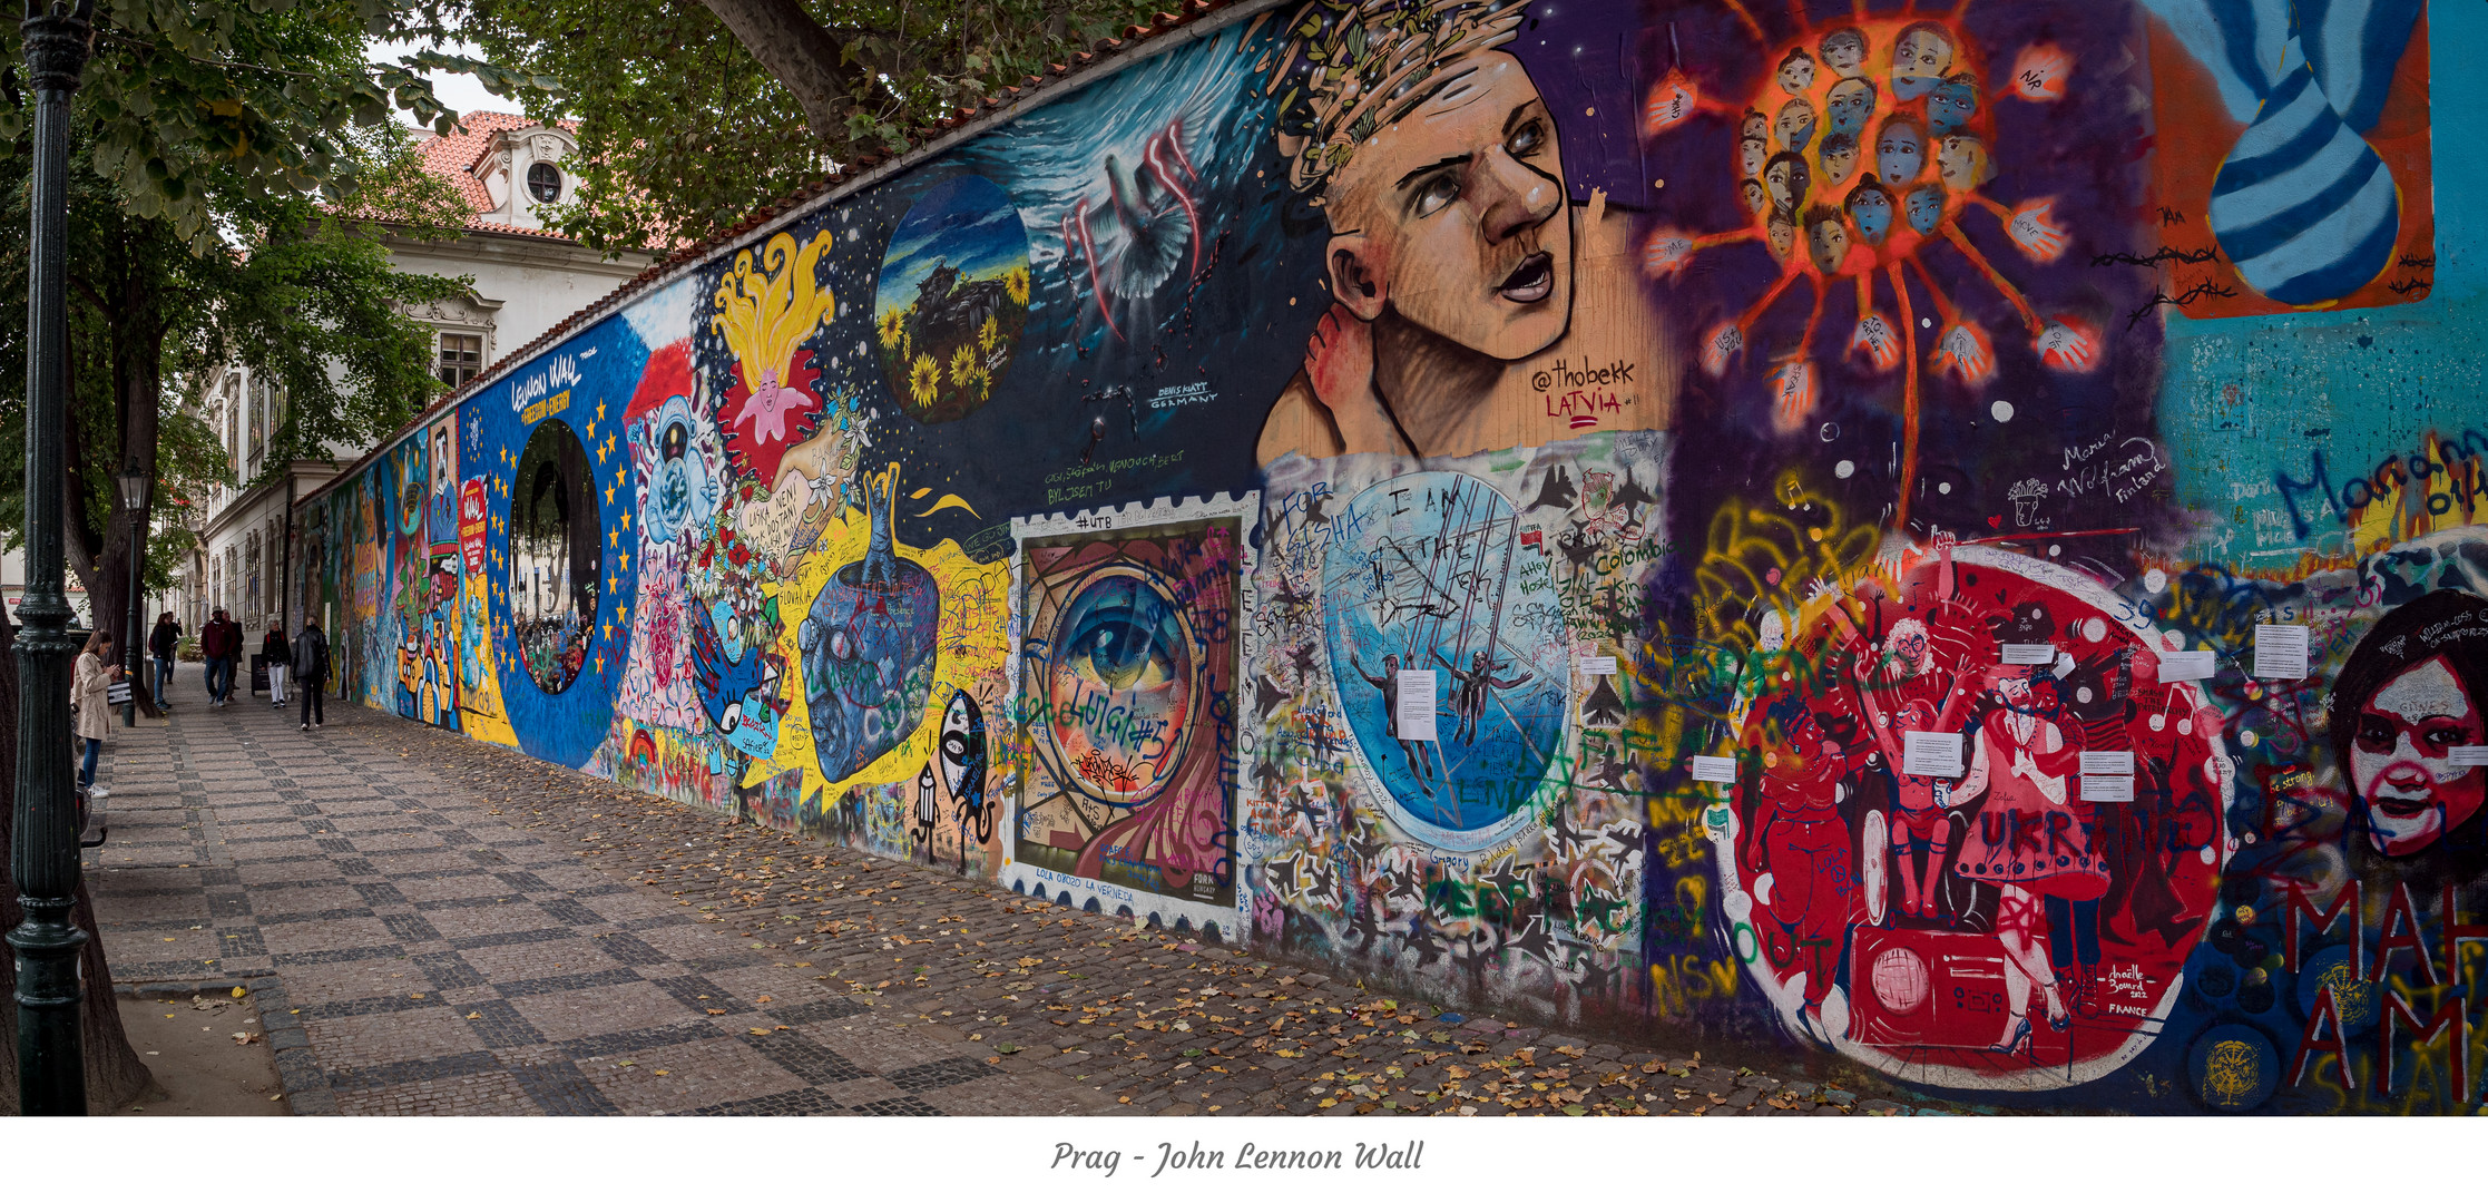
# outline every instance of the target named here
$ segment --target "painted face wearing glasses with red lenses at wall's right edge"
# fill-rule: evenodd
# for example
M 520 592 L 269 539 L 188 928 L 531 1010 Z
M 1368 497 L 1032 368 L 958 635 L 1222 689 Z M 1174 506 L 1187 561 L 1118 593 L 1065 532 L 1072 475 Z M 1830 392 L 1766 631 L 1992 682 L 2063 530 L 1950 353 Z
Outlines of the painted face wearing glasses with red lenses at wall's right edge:
M 2379 852 L 2408 857 L 2481 812 L 2488 772 L 2456 767 L 2453 747 L 2488 742 L 2488 725 L 2443 655 L 2384 682 L 2354 722 L 2349 777 Z

